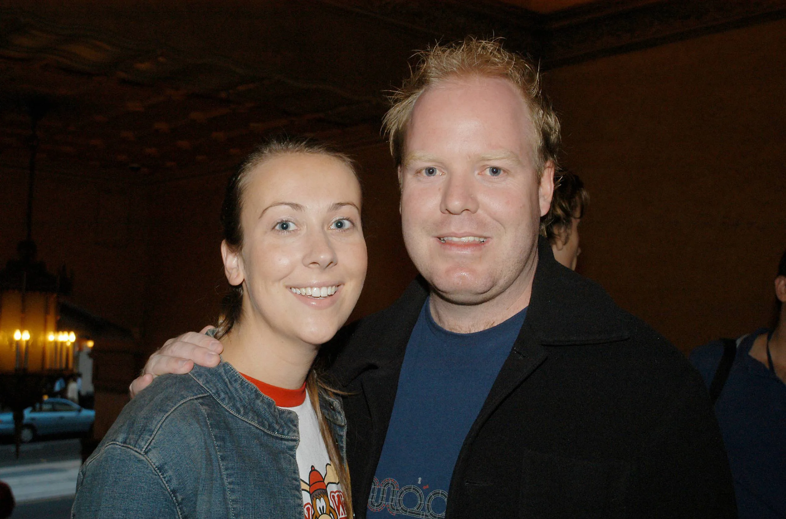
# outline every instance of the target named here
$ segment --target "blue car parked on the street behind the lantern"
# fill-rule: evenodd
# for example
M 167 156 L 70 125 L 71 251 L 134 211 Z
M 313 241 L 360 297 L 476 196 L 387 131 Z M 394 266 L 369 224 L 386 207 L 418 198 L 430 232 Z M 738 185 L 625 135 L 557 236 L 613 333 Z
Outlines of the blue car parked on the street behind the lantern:
M 13 413 L 0 412 L 0 435 L 13 436 Z M 84 434 L 93 426 L 96 411 L 80 408 L 71 400 L 50 398 L 24 410 L 23 443 L 47 434 Z

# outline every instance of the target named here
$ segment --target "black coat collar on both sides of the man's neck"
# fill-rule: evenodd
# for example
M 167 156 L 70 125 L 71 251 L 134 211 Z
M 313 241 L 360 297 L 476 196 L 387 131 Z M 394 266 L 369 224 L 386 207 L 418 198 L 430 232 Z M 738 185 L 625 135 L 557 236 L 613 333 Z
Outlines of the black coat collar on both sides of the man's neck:
M 373 367 L 398 371 L 427 297 L 428 283 L 417 276 L 393 305 L 344 327 L 332 341 L 340 349 L 331 367 L 336 382 L 345 386 Z M 597 283 L 560 265 L 544 238 L 538 240 L 525 328 L 541 345 L 602 344 L 630 335 L 612 298 Z

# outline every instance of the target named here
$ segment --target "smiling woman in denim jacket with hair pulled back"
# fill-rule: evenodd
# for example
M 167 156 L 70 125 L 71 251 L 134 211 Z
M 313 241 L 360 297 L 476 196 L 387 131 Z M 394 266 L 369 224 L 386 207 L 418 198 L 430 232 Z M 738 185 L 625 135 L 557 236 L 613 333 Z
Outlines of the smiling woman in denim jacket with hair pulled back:
M 313 364 L 365 279 L 360 207 L 345 155 L 274 141 L 246 160 L 221 215 L 222 362 L 123 409 L 73 517 L 352 517 L 343 411 Z

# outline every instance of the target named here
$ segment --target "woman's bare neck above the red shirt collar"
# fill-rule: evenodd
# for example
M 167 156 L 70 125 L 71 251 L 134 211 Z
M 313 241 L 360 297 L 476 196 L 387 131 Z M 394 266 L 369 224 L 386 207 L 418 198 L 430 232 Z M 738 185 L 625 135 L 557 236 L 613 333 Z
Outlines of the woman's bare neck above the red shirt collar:
M 236 323 L 221 338 L 223 360 L 244 375 L 284 389 L 299 389 L 306 381 L 319 347 L 284 338 L 264 323 Z

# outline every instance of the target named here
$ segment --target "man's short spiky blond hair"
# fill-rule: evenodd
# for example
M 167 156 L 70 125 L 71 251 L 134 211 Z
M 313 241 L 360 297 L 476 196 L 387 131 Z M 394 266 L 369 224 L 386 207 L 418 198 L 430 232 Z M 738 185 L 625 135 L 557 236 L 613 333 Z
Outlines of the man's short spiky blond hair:
M 556 163 L 560 148 L 560 121 L 541 92 L 541 75 L 534 64 L 503 49 L 499 39 L 474 37 L 444 46 L 437 44 L 416 56 L 419 58 L 417 66 L 401 89 L 391 94 L 392 106 L 382 120 L 396 166 L 401 166 L 406 126 L 421 94 L 444 79 L 472 75 L 509 79 L 519 89 L 530 109 L 535 129 L 534 166 L 541 173 L 547 161 Z

